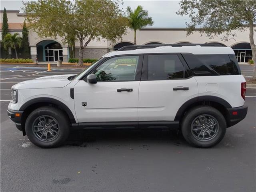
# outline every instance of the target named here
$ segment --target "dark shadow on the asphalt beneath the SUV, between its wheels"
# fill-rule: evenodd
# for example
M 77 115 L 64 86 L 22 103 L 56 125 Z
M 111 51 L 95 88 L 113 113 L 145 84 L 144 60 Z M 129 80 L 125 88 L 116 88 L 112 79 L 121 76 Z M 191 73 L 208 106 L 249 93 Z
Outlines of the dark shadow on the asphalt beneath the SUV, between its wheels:
M 86 147 L 89 144 L 111 143 L 170 143 L 176 146 L 187 145 L 181 134 L 176 131 L 162 130 L 73 130 L 66 146 Z

